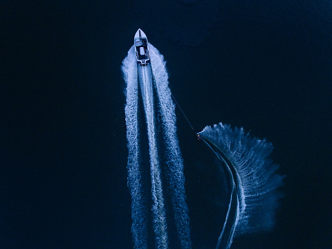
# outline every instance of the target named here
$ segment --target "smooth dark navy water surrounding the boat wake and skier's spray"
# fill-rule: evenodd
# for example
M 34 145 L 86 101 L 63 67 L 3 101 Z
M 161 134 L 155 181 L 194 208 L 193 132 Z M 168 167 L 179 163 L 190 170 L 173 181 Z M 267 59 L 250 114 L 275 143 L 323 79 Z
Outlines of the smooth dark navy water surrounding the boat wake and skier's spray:
M 286 175 L 275 228 L 232 248 L 331 248 L 331 8 L 1 1 L 1 248 L 133 248 L 120 66 L 138 28 L 197 131 L 223 122 L 275 147 Z M 223 179 L 176 115 L 193 245 L 214 248 Z

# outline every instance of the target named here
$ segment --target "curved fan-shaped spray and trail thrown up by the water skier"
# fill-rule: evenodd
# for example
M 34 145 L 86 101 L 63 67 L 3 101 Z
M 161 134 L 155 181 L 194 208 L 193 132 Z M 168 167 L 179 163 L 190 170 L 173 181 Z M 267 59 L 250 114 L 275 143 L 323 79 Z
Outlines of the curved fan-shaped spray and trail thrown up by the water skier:
M 199 133 L 223 162 L 232 186 L 228 214 L 216 248 L 230 248 L 234 234 L 273 228 L 278 188 L 284 176 L 270 160 L 273 145 L 253 138 L 243 129 L 225 124 L 205 127 Z

